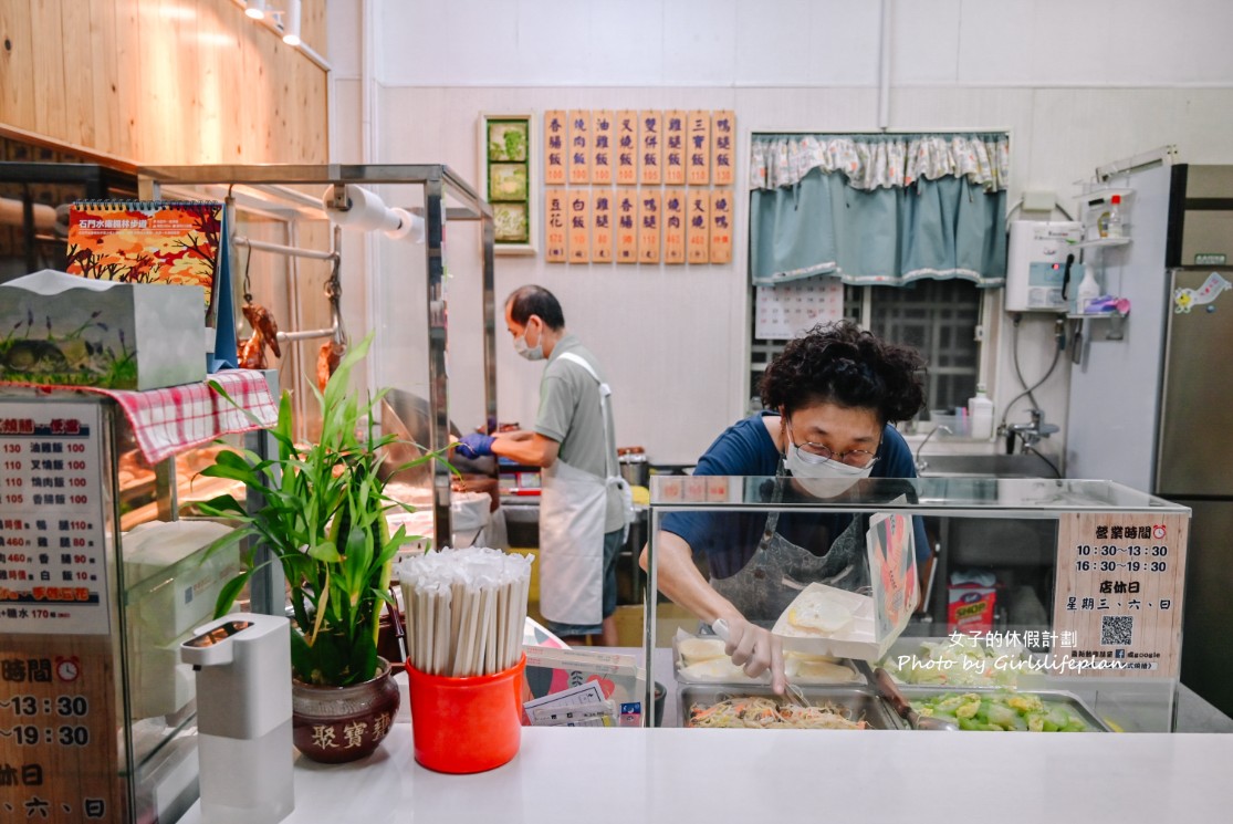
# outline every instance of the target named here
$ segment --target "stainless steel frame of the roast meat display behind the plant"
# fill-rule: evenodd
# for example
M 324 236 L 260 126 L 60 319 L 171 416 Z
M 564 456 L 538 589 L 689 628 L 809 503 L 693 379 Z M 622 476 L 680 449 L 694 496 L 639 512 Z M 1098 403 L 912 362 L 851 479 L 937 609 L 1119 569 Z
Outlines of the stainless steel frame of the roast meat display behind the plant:
M 425 241 L 424 258 L 428 271 L 428 403 L 432 426 L 427 448 L 430 451 L 449 445 L 449 313 L 445 311 L 445 245 L 444 227 L 449 221 L 480 221 L 483 278 L 483 381 L 485 413 L 497 414 L 497 345 L 494 299 L 496 225 L 492 207 L 461 176 L 444 164 L 252 164 L 252 165 L 191 165 L 143 167 L 138 169 L 138 195 L 158 200 L 163 186 L 240 185 L 265 196 L 290 204 L 302 217 L 326 220 L 321 204 L 309 195 L 285 186 L 295 185 L 382 185 L 407 184 L 423 186 L 424 206 L 408 211 L 422 212 Z M 446 199 L 460 206 L 446 205 Z M 451 543 L 450 471 L 441 463 L 433 471 L 433 523 L 436 546 Z

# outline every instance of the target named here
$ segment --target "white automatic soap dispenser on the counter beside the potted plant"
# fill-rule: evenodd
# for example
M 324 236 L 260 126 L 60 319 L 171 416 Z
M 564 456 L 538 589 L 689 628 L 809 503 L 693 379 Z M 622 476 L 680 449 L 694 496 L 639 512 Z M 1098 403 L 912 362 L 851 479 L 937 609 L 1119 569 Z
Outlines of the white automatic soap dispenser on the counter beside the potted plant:
M 180 657 L 197 672 L 202 820 L 277 824 L 296 807 L 290 623 L 233 613 L 199 628 Z

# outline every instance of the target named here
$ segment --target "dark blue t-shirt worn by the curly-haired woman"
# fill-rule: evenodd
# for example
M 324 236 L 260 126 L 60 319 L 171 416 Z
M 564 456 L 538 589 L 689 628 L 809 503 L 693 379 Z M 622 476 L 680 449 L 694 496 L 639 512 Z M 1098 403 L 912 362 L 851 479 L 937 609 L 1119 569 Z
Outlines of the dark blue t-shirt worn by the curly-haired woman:
M 762 422 L 767 414 L 773 413 L 758 413 L 725 429 L 698 460 L 694 475 L 773 476 L 779 468 L 779 450 Z M 873 465 L 869 476 L 916 477 L 916 464 L 907 443 L 889 424 L 878 447 L 878 463 Z M 768 482 L 763 490 L 767 501 L 771 500 L 771 487 Z M 804 500 L 785 484 L 784 501 L 794 500 L 794 496 L 795 500 Z M 909 500 L 914 500 L 910 493 Z M 711 577 L 725 579 L 740 571 L 753 555 L 766 528 L 766 512 L 673 512 L 665 516 L 662 529 L 683 538 L 694 553 L 704 554 Z M 920 561 L 928 556 L 928 540 L 921 519 L 912 521 L 916 559 Z M 851 523 L 851 514 L 784 512 L 779 516 L 776 532 L 815 555 L 825 555 L 831 543 Z

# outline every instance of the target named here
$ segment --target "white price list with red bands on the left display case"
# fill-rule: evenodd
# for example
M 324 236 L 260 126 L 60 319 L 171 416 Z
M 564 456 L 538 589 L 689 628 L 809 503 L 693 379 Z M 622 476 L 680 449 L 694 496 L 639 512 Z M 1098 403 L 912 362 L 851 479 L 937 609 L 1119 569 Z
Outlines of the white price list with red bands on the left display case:
M 0 403 L 0 633 L 106 635 L 96 403 Z

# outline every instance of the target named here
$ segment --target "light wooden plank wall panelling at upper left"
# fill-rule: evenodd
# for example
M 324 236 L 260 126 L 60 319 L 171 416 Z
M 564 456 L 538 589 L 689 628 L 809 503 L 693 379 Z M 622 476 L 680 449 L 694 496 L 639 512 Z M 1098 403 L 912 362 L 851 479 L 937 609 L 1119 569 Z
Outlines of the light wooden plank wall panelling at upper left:
M 324 2 L 303 2 L 317 53 Z M 328 159 L 328 74 L 232 0 L 5 0 L 0 39 L 15 134 L 138 165 Z

